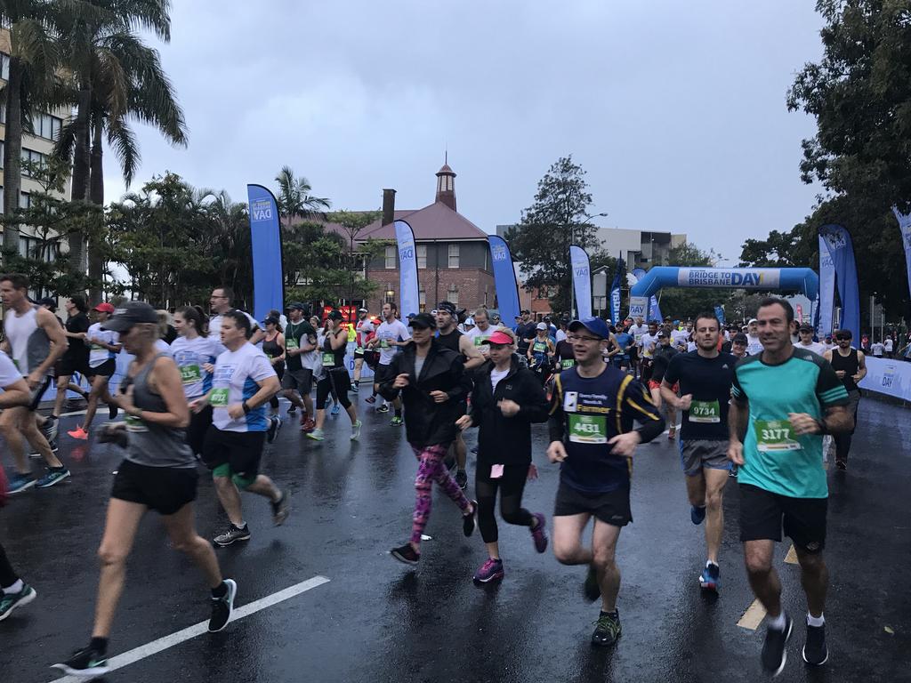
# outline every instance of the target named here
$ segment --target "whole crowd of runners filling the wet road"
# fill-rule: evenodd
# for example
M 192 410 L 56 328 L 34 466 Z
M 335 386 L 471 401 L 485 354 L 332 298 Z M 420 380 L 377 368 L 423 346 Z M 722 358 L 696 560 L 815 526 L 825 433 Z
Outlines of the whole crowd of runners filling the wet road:
M 387 302 L 379 317 L 361 309 L 346 323 L 341 311 L 311 316 L 296 301 L 256 321 L 221 287 L 212 291 L 208 314 L 185 306 L 171 316 L 138 301 L 101 302 L 89 311 L 74 296 L 64 322 L 55 301 L 32 302 L 27 291 L 23 276 L 0 276 L 0 433 L 13 467 L 0 491 L 27 494 L 70 477 L 58 457 L 67 452 L 57 428 L 67 391 L 87 401 L 83 422 L 67 436 L 84 441 L 94 434 L 124 457 L 98 548 L 90 640 L 54 665 L 67 674 L 107 671 L 125 566 L 148 510 L 161 515 L 174 549 L 199 566 L 210 588 L 209 630 L 228 625 L 238 586 L 222 575 L 215 548 L 251 538 L 243 494 L 265 498 L 274 525 L 287 519 L 292 492 L 260 473 L 264 445 L 295 413 L 302 437 L 322 441 L 327 409 L 347 413 L 353 441 L 366 410 L 391 411 L 391 428 L 404 426 L 417 461 L 415 505 L 410 536 L 390 551 L 394 559 L 420 564 L 436 484 L 458 506 L 463 533 L 479 527 L 486 559 L 473 580 L 502 579 L 499 496 L 502 521 L 527 527 L 537 553 L 549 545 L 560 563 L 585 566 L 584 595 L 600 601 L 591 642 L 601 647 L 622 631 L 617 547 L 632 522 L 634 454 L 666 434 L 680 446 L 691 521 L 704 526 L 705 563 L 693 570 L 701 590 L 721 590 L 722 495 L 736 481 L 746 572 L 768 613 L 763 668 L 782 671 L 793 629 L 772 563 L 782 532 L 793 541 L 806 595 L 803 658 L 816 666 L 828 658 L 824 438 L 831 435 L 835 466 L 845 470 L 865 353 L 849 331 L 815 341 L 783 299 L 763 300 L 743 326 L 724 326 L 711 311 L 688 321 L 616 324 L 536 321 L 522 311 L 505 324 L 483 308 L 466 317 L 449 301 L 404 320 Z M 353 382 L 345 362 L 351 336 Z M 112 389 L 118 360 L 127 370 Z M 362 384 L 365 369 L 373 381 Z M 56 402 L 42 414 L 41 398 L 55 378 Z M 99 403 L 107 405 L 108 422 L 96 425 Z M 522 505 L 527 480 L 537 476 L 535 423 L 547 423 L 546 457 L 560 466 L 550 515 Z M 477 429 L 473 497 L 466 494 L 469 429 Z M 44 462 L 44 474 L 33 474 L 26 447 Z M 197 533 L 193 509 L 203 468 L 227 518 L 210 540 Z M 0 545 L 0 620 L 37 595 L 14 563 Z

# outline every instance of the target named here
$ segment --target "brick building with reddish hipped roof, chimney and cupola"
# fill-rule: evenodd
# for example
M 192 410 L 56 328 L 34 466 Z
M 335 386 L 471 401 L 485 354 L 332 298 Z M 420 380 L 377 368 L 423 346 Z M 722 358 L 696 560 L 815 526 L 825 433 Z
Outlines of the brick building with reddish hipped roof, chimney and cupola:
M 487 234 L 455 209 L 455 172 L 445 164 L 436 173 L 436 196 L 424 209 L 394 208 L 395 190 L 384 190 L 383 218 L 363 229 L 363 240 L 395 240 L 394 220 L 405 220 L 415 232 L 417 280 L 421 311 L 437 301 L 452 301 L 472 310 L 496 307 L 494 274 Z M 367 302 L 379 312 L 384 301 L 400 303 L 398 250 L 388 246 L 365 269 L 365 277 L 380 285 Z

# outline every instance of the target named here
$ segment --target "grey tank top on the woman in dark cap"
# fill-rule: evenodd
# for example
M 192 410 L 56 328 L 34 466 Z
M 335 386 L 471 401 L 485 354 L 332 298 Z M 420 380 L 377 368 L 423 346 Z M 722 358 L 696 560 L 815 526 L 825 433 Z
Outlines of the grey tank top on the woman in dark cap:
M 159 353 L 139 371 L 136 377 L 124 380 L 124 391 L 133 385 L 133 403 L 148 413 L 168 413 L 164 399 L 153 393 L 148 386 L 148 373 L 164 353 Z M 174 427 L 147 423 L 138 417 L 127 416 L 129 444 L 127 460 L 147 467 L 174 467 L 195 469 L 196 458 L 187 443 L 187 433 Z

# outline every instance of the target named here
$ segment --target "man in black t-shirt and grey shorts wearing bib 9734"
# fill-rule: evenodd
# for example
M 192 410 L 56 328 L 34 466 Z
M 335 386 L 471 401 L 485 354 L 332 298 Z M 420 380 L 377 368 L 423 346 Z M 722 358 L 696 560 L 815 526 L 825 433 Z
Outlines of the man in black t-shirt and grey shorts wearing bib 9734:
M 721 323 L 713 312 L 696 317 L 695 353 L 679 353 L 661 382 L 661 396 L 680 409 L 681 467 L 694 525 L 705 520 L 706 562 L 699 585 L 713 591 L 721 586 L 718 550 L 722 545 L 722 493 L 728 482 L 728 403 L 737 359 L 718 351 Z M 657 362 L 656 362 L 657 365 Z M 682 396 L 678 398 L 678 389 Z

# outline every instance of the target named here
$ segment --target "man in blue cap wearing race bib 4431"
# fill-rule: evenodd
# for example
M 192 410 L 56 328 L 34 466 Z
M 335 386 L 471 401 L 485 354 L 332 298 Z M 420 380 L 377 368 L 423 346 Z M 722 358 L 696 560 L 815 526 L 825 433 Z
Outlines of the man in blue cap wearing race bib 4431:
M 664 421 L 640 382 L 601 360 L 609 330 L 599 318 L 569 325 L 576 367 L 554 381 L 548 459 L 560 463 L 554 505 L 554 556 L 564 565 L 588 565 L 585 594 L 601 597 L 592 645 L 609 646 L 620 635 L 614 561 L 620 529 L 632 521 L 630 471 L 636 445 L 664 431 Z M 619 409 L 618 409 L 619 406 Z M 640 429 L 631 431 L 633 420 Z M 589 519 L 591 548 L 581 543 Z

